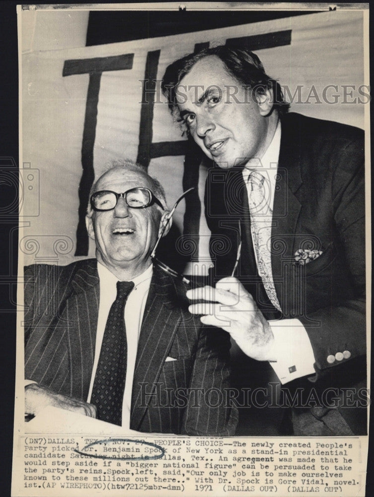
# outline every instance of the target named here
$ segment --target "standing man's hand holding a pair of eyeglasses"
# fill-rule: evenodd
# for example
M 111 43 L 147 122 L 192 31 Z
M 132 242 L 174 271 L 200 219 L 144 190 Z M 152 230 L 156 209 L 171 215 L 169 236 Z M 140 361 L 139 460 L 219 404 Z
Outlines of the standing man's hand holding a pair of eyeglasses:
M 205 301 L 190 305 L 189 311 L 202 314 L 203 324 L 230 333 L 246 355 L 259 361 L 276 360 L 271 327 L 239 280 L 223 278 L 216 288 L 195 288 L 187 292 L 187 297 Z

